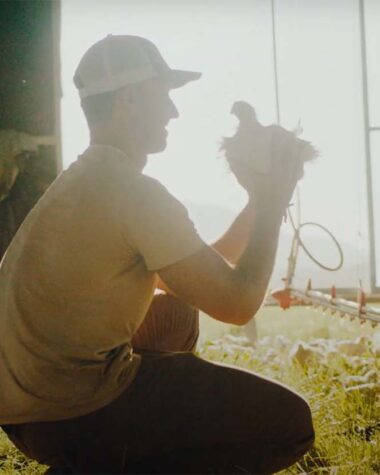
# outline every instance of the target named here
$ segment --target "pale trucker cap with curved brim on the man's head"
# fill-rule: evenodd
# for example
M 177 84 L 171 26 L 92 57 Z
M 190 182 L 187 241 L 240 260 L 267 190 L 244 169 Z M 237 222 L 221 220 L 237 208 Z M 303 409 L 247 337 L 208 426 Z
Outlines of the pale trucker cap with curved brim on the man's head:
M 84 99 L 158 76 L 175 89 L 199 79 L 201 73 L 171 69 L 157 47 L 145 38 L 108 35 L 86 51 L 73 80 Z

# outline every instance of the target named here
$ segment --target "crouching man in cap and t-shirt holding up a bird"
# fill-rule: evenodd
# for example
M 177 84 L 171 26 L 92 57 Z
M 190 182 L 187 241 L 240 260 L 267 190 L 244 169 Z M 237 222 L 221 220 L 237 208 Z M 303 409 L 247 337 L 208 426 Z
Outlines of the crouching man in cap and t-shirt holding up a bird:
M 299 395 L 191 351 L 196 309 L 236 325 L 259 309 L 297 182 L 234 170 L 248 205 L 214 249 L 199 238 L 142 174 L 178 117 L 170 90 L 199 76 L 143 38 L 93 45 L 74 77 L 90 146 L 2 262 L 0 423 L 51 473 L 272 473 L 313 443 Z

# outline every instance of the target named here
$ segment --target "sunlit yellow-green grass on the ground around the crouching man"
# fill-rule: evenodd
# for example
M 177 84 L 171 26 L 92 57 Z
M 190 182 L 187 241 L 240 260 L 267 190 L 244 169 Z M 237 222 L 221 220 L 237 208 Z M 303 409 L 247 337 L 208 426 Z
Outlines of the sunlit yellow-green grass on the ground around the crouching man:
M 380 340 L 380 328 L 306 307 L 287 312 L 266 307 L 256 322 L 259 339 L 252 346 L 241 328 L 202 316 L 198 351 L 286 383 L 309 401 L 315 448 L 281 474 L 379 474 L 380 358 L 373 342 Z M 342 346 L 342 340 L 358 337 L 364 340 L 356 346 Z M 0 433 L 1 474 L 43 472 Z

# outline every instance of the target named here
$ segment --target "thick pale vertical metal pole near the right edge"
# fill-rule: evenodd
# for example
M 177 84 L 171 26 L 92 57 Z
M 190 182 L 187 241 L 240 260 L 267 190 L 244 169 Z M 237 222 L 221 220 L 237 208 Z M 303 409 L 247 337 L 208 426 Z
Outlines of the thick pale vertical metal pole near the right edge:
M 362 63 L 362 83 L 363 83 L 363 107 L 364 107 L 364 144 L 366 158 L 366 181 L 367 181 L 367 206 L 368 206 L 368 239 L 369 239 L 369 271 L 371 292 L 376 288 L 376 252 L 375 252 L 375 223 L 373 210 L 373 189 L 372 189 L 372 158 L 370 143 L 370 123 L 368 107 L 368 71 L 367 71 L 367 46 L 364 15 L 364 0 L 359 0 L 360 18 L 360 42 L 361 42 L 361 63 Z

